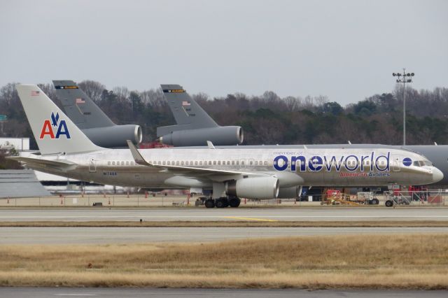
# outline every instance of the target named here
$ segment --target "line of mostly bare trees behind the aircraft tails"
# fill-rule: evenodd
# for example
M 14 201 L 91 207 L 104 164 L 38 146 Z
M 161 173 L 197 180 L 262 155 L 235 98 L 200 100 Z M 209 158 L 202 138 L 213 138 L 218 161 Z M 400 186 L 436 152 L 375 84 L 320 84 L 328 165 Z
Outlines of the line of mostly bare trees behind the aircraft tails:
M 117 124 L 138 124 L 144 141 L 156 138 L 156 128 L 174 125 L 174 118 L 160 88 L 142 92 L 84 80 L 78 84 Z M 52 84 L 39 85 L 58 106 Z M 356 104 L 341 106 L 328 97 L 279 97 L 267 91 L 258 96 L 243 93 L 210 98 L 191 94 L 219 125 L 239 125 L 244 144 L 402 143 L 402 87 L 374 94 Z M 448 143 L 448 88 L 406 88 L 407 143 Z M 30 137 L 36 143 L 15 91 L 14 83 L 0 88 L 0 114 L 8 116 L 2 137 Z

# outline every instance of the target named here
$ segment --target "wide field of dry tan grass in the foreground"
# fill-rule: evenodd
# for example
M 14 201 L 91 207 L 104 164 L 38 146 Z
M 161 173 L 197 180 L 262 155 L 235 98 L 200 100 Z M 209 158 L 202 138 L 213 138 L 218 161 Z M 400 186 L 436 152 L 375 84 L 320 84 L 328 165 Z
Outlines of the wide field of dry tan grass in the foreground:
M 0 246 L 0 285 L 448 289 L 448 235 Z

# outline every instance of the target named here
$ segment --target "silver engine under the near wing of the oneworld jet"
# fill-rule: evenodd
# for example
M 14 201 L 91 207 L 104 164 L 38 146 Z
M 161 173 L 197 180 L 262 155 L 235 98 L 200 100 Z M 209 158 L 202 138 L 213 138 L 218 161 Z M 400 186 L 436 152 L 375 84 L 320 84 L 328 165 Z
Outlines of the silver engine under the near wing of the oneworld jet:
M 251 177 L 225 183 L 226 194 L 247 199 L 276 199 L 279 188 L 279 179 L 275 177 Z

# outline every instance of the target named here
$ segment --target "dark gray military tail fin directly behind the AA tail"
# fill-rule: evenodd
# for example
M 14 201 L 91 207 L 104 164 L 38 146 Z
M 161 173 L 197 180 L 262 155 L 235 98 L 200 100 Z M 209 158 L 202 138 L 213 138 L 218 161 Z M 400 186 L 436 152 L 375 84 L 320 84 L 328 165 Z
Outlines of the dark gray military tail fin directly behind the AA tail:
M 80 129 L 115 125 L 73 80 L 53 80 L 65 113 Z

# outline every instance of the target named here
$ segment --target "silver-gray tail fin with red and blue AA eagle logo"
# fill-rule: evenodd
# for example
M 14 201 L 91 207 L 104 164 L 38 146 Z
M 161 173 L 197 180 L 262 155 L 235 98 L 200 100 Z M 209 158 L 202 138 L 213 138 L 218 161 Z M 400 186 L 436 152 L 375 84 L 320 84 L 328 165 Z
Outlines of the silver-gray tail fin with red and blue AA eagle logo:
M 101 150 L 37 85 L 15 85 L 42 155 Z

